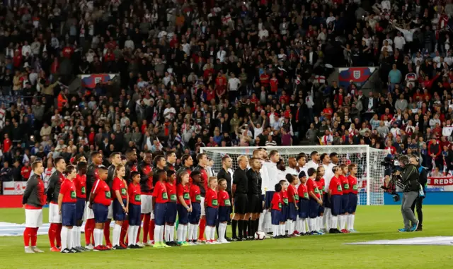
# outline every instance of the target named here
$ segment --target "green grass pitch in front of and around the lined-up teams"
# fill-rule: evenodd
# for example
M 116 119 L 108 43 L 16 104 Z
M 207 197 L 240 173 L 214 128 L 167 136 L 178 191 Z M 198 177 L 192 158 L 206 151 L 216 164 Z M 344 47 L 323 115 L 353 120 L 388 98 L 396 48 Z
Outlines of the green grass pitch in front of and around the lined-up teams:
M 22 237 L 0 237 L 0 268 L 451 268 L 452 246 L 350 246 L 345 242 L 453 236 L 452 206 L 425 206 L 423 232 L 398 233 L 398 206 L 359 207 L 358 234 L 326 234 L 184 248 L 51 253 L 47 236 L 38 237 L 46 253 L 25 254 Z M 44 213 L 47 222 L 47 211 Z M 1 209 L 0 222 L 24 222 L 22 209 Z M 84 238 L 82 239 L 84 242 Z

